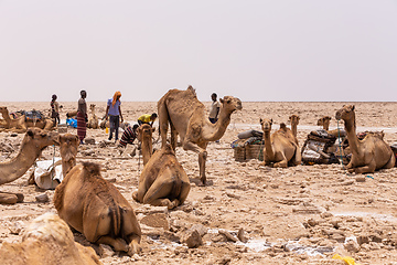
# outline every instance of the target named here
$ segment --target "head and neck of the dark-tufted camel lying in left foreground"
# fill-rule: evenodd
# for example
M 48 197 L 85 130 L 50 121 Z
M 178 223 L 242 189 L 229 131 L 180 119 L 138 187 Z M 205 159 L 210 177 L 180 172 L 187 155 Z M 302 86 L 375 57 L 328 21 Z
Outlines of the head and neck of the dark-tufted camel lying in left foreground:
M 78 145 L 78 136 L 72 134 L 60 135 L 62 170 L 64 171 L 64 176 L 66 176 L 69 169 L 76 166 Z

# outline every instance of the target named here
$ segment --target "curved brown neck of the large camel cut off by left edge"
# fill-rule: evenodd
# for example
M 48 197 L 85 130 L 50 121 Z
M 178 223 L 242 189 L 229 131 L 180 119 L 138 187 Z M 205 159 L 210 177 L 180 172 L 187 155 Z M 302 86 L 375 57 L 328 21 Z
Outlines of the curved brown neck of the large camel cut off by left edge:
M 0 184 L 21 178 L 40 153 L 41 149 L 37 146 L 23 144 L 17 157 L 9 162 L 0 163 Z

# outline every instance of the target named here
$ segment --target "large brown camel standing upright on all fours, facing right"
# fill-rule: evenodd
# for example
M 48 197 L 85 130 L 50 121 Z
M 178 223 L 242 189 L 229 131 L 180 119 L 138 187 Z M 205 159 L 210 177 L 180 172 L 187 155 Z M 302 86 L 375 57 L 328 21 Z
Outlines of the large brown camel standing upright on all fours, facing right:
M 206 183 L 205 160 L 208 141 L 216 141 L 225 134 L 230 115 L 243 108 L 240 99 L 233 96 L 219 98 L 222 104 L 216 124 L 208 120 L 205 106 L 197 99 L 195 91 L 170 89 L 158 102 L 162 147 L 167 144 L 167 131 L 171 127 L 171 146 L 175 150 L 179 134 L 184 150 L 198 153 L 200 179 Z

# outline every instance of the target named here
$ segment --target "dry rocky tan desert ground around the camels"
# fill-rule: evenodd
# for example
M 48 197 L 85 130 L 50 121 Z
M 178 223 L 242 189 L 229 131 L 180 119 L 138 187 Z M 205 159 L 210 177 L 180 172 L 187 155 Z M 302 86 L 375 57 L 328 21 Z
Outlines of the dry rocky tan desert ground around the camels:
M 76 103 L 61 103 L 65 113 Z M 89 104 L 89 103 L 88 103 Z M 97 116 L 105 104 L 97 104 Z M 334 117 L 336 109 L 350 103 L 243 103 L 243 110 L 218 144 L 208 145 L 206 173 L 210 184 L 198 183 L 197 156 L 176 149 L 176 157 L 191 178 L 186 202 L 175 210 L 151 208 L 135 202 L 142 159 L 131 158 L 132 147 L 122 153 L 114 145 L 99 147 L 107 138 L 105 130 L 88 129 L 87 137 L 96 145 L 81 146 L 78 161 L 90 160 L 103 166 L 103 177 L 111 181 L 131 203 L 142 226 L 142 252 L 133 257 L 110 250 L 103 251 L 104 264 L 344 264 L 332 259 L 334 254 L 352 256 L 360 264 L 397 264 L 397 179 L 396 168 L 373 174 L 347 174 L 341 165 L 298 166 L 288 169 L 262 167 L 259 160 L 237 162 L 230 142 L 237 134 L 260 129 L 259 117 L 287 123 L 291 114 L 300 115 L 300 146 L 316 129 L 316 119 Z M 396 103 L 354 103 L 357 131 L 384 130 L 388 144 L 397 141 Z M 1 103 L 10 110 L 40 109 L 49 103 Z M 210 106 L 210 103 L 205 103 Z M 155 103 L 122 103 L 126 120 L 157 110 Z M 342 124 L 340 126 L 343 126 Z M 331 120 L 331 128 L 336 121 Z M 75 134 L 75 129 L 68 129 Z M 0 132 L 0 161 L 14 157 L 23 135 Z M 155 135 L 157 138 L 157 135 Z M 8 148 L 10 149 L 10 148 Z M 12 151 L 13 149 L 13 151 Z M 46 148 L 43 159 L 52 159 L 54 148 Z M 55 156 L 60 156 L 55 148 Z M 28 186 L 33 168 L 20 179 L 3 184 L 1 191 L 22 192 L 24 202 L 0 205 L 0 244 L 21 241 L 20 231 L 29 221 L 47 211 L 55 212 L 53 190 Z M 46 192 L 50 202 L 39 203 L 35 197 Z M 193 226 L 195 225 L 195 226 Z M 158 226 L 158 227 L 153 227 Z M 192 227 L 202 235 L 203 245 L 187 248 L 184 239 Z M 237 237 L 244 231 L 245 236 Z M 76 241 L 86 244 L 82 235 Z M 247 242 L 242 242 L 247 240 Z M 236 242 L 234 242 L 236 241 Z

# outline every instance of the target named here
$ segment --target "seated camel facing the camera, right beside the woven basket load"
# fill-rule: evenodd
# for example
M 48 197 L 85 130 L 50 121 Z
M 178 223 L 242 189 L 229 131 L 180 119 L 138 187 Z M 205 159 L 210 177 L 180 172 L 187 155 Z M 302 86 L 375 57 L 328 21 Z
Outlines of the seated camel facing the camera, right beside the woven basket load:
M 260 125 L 265 140 L 265 166 L 273 163 L 275 168 L 287 168 L 289 165 L 301 163 L 300 148 L 293 140 L 291 130 L 285 124 L 281 124 L 280 129 L 271 136 L 272 119 L 260 118 Z

